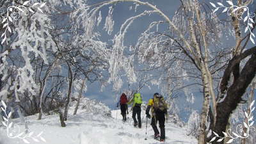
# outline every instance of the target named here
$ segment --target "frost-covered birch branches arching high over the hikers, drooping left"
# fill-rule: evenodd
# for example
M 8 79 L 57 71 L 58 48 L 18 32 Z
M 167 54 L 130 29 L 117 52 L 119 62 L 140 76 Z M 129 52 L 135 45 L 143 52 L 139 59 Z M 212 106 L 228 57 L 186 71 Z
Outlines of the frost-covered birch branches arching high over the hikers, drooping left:
M 93 35 L 95 35 L 95 32 L 93 32 L 93 29 L 95 29 L 96 24 L 97 24 L 97 26 L 99 26 L 99 22 L 102 20 L 101 13 L 99 11 L 103 6 L 108 6 L 108 5 L 116 4 L 116 3 L 120 3 L 120 2 L 132 2 L 132 3 L 136 4 L 136 6 L 145 5 L 145 6 L 148 6 L 148 8 L 150 8 L 151 10 L 146 10 L 138 15 L 135 15 L 134 17 L 130 17 L 130 18 L 126 19 L 123 22 L 122 26 L 120 27 L 119 32 L 113 38 L 113 47 L 111 47 L 112 53 L 109 58 L 109 73 L 110 73 L 109 82 L 112 81 L 114 83 L 115 82 L 118 83 L 118 84 L 114 84 L 115 86 L 117 86 L 116 88 L 120 87 L 120 84 L 122 84 L 122 80 L 120 79 L 120 72 L 122 70 L 126 69 L 125 72 L 129 72 L 129 76 L 135 76 L 134 74 L 132 74 L 132 70 L 127 70 L 127 67 L 124 68 L 124 62 L 129 61 L 129 59 L 130 59 L 130 58 L 126 58 L 127 56 L 124 56 L 124 50 L 126 48 L 124 46 L 124 36 L 125 36 L 125 33 L 127 33 L 127 29 L 129 28 L 129 26 L 131 26 L 132 22 L 135 19 L 142 17 L 143 15 L 150 15 L 152 13 L 157 13 L 158 15 L 163 17 L 163 20 L 165 20 L 166 23 L 169 24 L 169 26 L 173 29 L 173 31 L 176 31 L 178 33 L 180 40 L 182 40 L 184 42 L 184 44 L 186 45 L 186 49 L 188 49 L 188 51 L 191 52 L 191 54 L 196 56 L 195 52 L 192 51 L 188 40 L 186 40 L 185 36 L 182 34 L 182 31 L 179 30 L 179 28 L 172 22 L 172 20 L 169 19 L 169 17 L 167 15 L 165 15 L 163 12 L 161 12 L 161 10 L 159 10 L 156 6 L 154 6 L 148 2 L 143 2 L 143 1 L 139 1 L 139 0 L 103 1 L 101 3 L 92 4 L 91 6 L 86 6 L 85 8 L 79 8 L 77 10 L 77 12 L 74 13 L 74 15 L 77 15 L 76 18 L 78 18 L 77 20 L 80 22 L 81 22 L 81 20 L 86 19 L 86 22 L 83 21 L 83 22 L 79 23 L 79 24 L 83 25 L 83 28 L 86 31 L 86 35 L 84 35 L 84 36 L 86 36 L 87 38 L 90 39 L 90 38 L 93 38 Z M 99 14 L 97 14 L 98 12 L 99 12 Z M 109 35 L 113 31 L 113 25 L 114 25 L 112 15 L 113 15 L 113 7 L 110 6 L 109 12 L 106 17 L 105 24 L 104 24 L 104 29 L 106 29 L 106 31 L 108 31 Z M 81 18 L 83 18 L 83 19 L 81 19 Z M 96 22 L 96 21 L 98 21 L 98 22 Z M 161 21 L 161 22 L 163 22 L 163 21 Z M 152 24 L 152 25 L 154 25 L 154 24 Z M 150 29 L 150 28 L 148 28 L 148 29 Z M 147 33 L 147 32 L 145 32 L 145 33 Z M 143 35 L 146 35 L 146 34 L 143 34 Z M 163 41 L 160 41 L 159 43 L 163 43 Z M 157 50 L 157 49 L 159 49 L 158 44 L 152 43 L 152 45 L 150 46 L 150 49 L 154 49 L 154 51 L 158 51 Z M 162 61 L 161 63 L 163 63 L 163 62 L 164 61 Z M 129 68 L 132 68 L 132 65 L 130 65 L 130 66 L 131 67 L 129 67 Z M 132 81 L 135 81 L 134 78 L 135 77 L 132 78 Z

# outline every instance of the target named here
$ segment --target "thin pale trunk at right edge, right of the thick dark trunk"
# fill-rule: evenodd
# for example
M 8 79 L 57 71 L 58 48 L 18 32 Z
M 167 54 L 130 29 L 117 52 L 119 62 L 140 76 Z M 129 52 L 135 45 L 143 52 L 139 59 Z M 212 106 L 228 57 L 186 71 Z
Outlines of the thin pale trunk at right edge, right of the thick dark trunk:
M 254 99 L 254 90 L 255 90 L 255 88 L 256 88 L 256 79 L 254 79 L 253 82 L 252 82 L 252 84 L 251 84 L 251 91 L 250 91 L 250 95 L 249 95 L 249 99 L 248 99 L 248 109 L 247 109 L 247 113 L 250 113 L 250 112 L 251 112 L 251 111 L 250 111 L 250 106 L 251 106 L 252 101 L 253 101 L 253 99 Z M 248 123 L 248 118 L 245 117 L 244 119 L 245 119 L 244 122 L 247 124 L 247 123 Z M 243 134 L 244 134 L 244 132 L 247 132 L 247 128 L 246 128 L 246 127 L 243 127 Z M 243 138 L 243 139 L 241 140 L 241 144 L 245 144 L 245 142 L 246 142 L 246 139 Z

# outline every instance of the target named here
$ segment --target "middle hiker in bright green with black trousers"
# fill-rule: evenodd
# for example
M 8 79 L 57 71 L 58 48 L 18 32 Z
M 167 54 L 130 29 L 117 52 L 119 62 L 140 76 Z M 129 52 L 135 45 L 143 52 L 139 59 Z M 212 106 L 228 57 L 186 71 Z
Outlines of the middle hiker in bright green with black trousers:
M 141 128 L 141 117 L 140 117 L 140 114 L 141 114 L 141 103 L 142 103 L 142 99 L 141 99 L 141 94 L 140 93 L 134 93 L 132 99 L 127 102 L 127 104 L 132 104 L 132 118 L 134 120 L 134 127 L 136 127 L 138 125 L 139 128 Z M 136 115 L 137 115 L 137 118 L 138 118 L 138 122 L 136 120 Z

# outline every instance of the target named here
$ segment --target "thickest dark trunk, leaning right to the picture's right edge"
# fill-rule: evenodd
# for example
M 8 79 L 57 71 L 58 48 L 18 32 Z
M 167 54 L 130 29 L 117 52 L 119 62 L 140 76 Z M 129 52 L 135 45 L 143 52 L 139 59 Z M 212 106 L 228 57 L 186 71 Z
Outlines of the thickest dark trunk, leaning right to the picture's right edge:
M 220 136 L 223 136 L 223 131 L 226 131 L 226 125 L 228 118 L 232 111 L 236 109 L 237 104 L 241 101 L 241 97 L 248 85 L 252 82 L 256 72 L 256 54 L 252 54 L 252 57 L 246 62 L 239 78 L 233 83 L 227 90 L 227 96 L 225 99 L 218 103 L 216 125 L 214 131 Z M 223 141 L 213 141 L 212 144 L 222 144 Z

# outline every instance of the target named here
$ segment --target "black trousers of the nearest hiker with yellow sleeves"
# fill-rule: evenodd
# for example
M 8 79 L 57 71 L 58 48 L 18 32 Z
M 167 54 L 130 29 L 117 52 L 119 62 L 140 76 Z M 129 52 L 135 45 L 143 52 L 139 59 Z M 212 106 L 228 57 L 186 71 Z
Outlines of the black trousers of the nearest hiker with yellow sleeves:
M 160 127 L 160 131 L 161 131 L 161 137 L 160 139 L 165 140 L 165 129 L 164 129 L 164 122 L 165 122 L 165 117 L 164 117 L 164 113 L 156 113 L 156 116 L 152 116 L 152 120 L 151 120 L 151 126 L 155 132 L 155 135 L 159 134 L 159 131 L 157 129 L 157 121 L 159 122 L 159 127 Z

